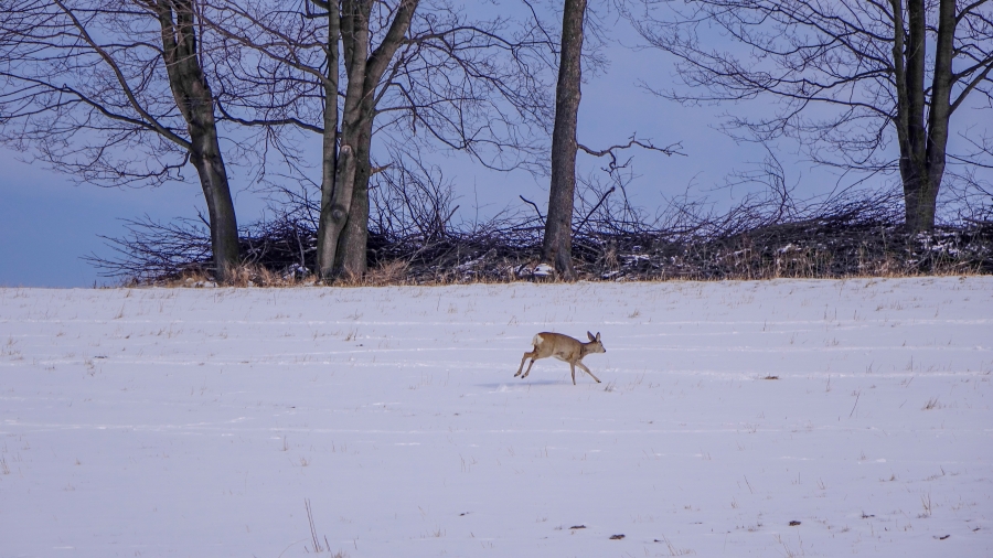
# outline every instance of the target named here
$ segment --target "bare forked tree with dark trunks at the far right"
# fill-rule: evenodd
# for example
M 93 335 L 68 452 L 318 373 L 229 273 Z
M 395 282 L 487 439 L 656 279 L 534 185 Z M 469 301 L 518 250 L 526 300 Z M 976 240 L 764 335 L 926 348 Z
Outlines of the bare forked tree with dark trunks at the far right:
M 814 161 L 843 171 L 899 172 L 911 233 L 935 226 L 949 160 L 978 162 L 948 152 L 949 132 L 951 117 L 969 108 L 969 99 L 986 108 L 993 101 L 987 0 L 643 6 L 628 11 L 631 22 L 650 45 L 676 57 L 688 86 L 656 93 L 683 103 L 772 96 L 779 101 L 773 115 L 732 118 L 732 133 L 800 139 Z M 716 46 L 724 41 L 737 44 Z M 896 158 L 888 150 L 894 136 Z

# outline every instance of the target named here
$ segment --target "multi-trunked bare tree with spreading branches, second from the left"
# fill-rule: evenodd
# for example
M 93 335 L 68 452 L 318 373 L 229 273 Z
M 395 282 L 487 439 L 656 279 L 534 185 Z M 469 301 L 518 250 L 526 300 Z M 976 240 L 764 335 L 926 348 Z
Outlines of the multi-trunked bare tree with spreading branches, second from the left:
M 541 77 L 551 64 L 533 28 L 468 21 L 441 1 L 212 6 L 226 43 L 217 69 L 224 117 L 259 127 L 257 138 L 298 176 L 308 162 L 297 132 L 322 135 L 324 278 L 365 271 L 373 136 L 466 151 L 496 169 L 537 168 L 545 152 L 533 131 L 544 132 L 549 115 Z

